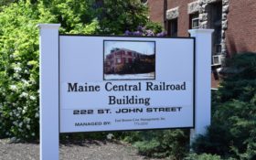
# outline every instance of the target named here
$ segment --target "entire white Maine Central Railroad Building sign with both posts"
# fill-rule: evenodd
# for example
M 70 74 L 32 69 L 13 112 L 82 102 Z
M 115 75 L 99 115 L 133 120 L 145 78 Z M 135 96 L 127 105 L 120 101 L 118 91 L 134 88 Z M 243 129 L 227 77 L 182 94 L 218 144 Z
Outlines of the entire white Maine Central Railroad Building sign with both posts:
M 58 24 L 38 27 L 41 160 L 59 159 L 59 133 L 205 133 L 212 30 L 186 38 L 93 37 L 59 35 Z

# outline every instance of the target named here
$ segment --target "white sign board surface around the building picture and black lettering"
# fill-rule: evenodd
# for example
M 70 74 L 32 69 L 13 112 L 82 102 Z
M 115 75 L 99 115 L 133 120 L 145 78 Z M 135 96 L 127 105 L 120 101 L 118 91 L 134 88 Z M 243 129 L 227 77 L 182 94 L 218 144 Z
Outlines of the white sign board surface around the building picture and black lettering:
M 91 82 L 94 81 L 99 81 L 101 80 L 101 69 L 98 69 L 98 66 L 101 66 L 101 63 L 103 63 L 103 59 L 101 59 L 101 46 L 103 48 L 104 52 L 104 44 L 107 42 L 114 42 L 116 43 L 130 43 L 129 45 L 131 46 L 131 43 L 134 43 L 133 45 L 137 45 L 136 43 L 140 43 L 138 45 L 143 45 L 141 44 L 142 42 L 144 43 L 155 43 L 154 47 L 154 52 L 155 52 L 155 77 L 152 80 L 149 79 L 139 79 L 139 80 L 134 80 L 134 77 L 132 79 L 122 79 L 122 80 L 105 80 L 104 74 L 102 78 L 102 83 L 106 83 L 111 81 L 112 83 L 117 83 L 118 81 L 121 84 L 123 83 L 128 83 L 130 81 L 140 81 L 140 85 L 144 87 L 144 83 L 147 83 L 149 81 L 153 81 L 154 84 L 159 83 L 157 80 L 165 80 L 167 77 L 167 80 L 180 80 L 180 79 L 186 79 L 186 80 L 191 80 L 192 84 L 190 86 L 187 84 L 187 88 L 190 91 L 183 91 L 183 92 L 189 92 L 188 95 L 185 94 L 180 94 L 179 92 L 182 91 L 151 91 L 149 93 L 148 91 L 139 91 L 137 92 L 136 95 L 141 95 L 141 97 L 144 97 L 145 94 L 152 94 L 150 97 L 151 99 L 159 100 L 158 102 L 155 102 L 155 106 L 150 105 L 148 107 L 158 107 L 158 106 L 165 106 L 165 105 L 170 105 L 172 106 L 172 109 L 178 110 L 176 113 L 174 112 L 168 112 L 169 114 L 165 114 L 166 112 L 157 112 L 157 115 L 153 114 L 153 112 L 150 112 L 146 114 L 147 112 L 145 110 L 151 109 L 151 108 L 146 108 L 144 107 L 144 112 L 137 114 L 136 116 L 131 115 L 129 113 L 124 113 L 123 116 L 125 117 L 133 117 L 133 118 L 126 118 L 127 120 L 138 120 L 139 121 L 132 121 L 130 123 L 116 123 L 118 120 L 122 120 L 123 116 L 119 116 L 118 114 L 115 114 L 112 112 L 112 115 L 108 117 L 107 114 L 97 114 L 93 108 L 89 108 L 90 111 L 94 111 L 93 114 L 84 114 L 84 115 L 71 115 L 72 112 L 70 111 L 71 109 L 77 109 L 76 111 L 88 111 L 88 107 L 86 106 L 101 106 L 101 108 L 108 108 L 108 110 L 114 110 L 112 107 L 114 106 L 107 106 L 106 103 L 101 103 L 101 99 L 104 99 L 107 97 L 109 94 L 106 91 L 101 91 L 101 94 L 104 96 L 97 96 L 97 94 L 94 94 L 94 96 L 91 96 L 91 99 L 88 99 L 88 101 L 91 102 L 86 102 L 84 99 L 86 99 L 86 95 L 90 94 L 91 92 L 86 92 L 84 94 L 75 92 L 73 95 L 70 92 L 67 92 L 67 84 L 65 83 L 65 87 L 63 87 L 62 83 L 63 80 L 68 83 L 68 81 L 76 81 L 79 82 L 78 80 L 92 80 Z M 103 43 L 103 44 L 101 44 Z M 79 45 L 78 45 L 79 44 Z M 81 46 L 81 44 L 84 44 Z M 158 46 L 157 46 L 157 45 Z M 165 45 L 164 45 L 165 44 Z M 172 45 L 170 45 L 172 44 Z M 168 46 L 167 46 L 168 45 Z M 61 47 L 62 46 L 62 47 Z M 92 46 L 92 47 L 91 47 Z M 99 46 L 99 48 L 93 48 L 93 46 Z M 187 46 L 187 48 L 184 48 L 184 46 Z M 170 48 L 171 47 L 171 48 Z M 188 48 L 189 47 L 189 48 Z M 91 51 L 88 53 L 88 49 L 90 48 L 94 49 L 93 54 L 89 55 Z M 177 51 L 178 49 L 178 51 Z M 191 49 L 191 50 L 190 50 Z M 86 51 L 85 51 L 86 50 Z M 96 50 L 96 51 L 95 51 Z M 163 52 L 163 53 L 162 53 Z M 87 54 L 86 54 L 87 53 Z M 171 53 L 171 54 L 170 54 Z M 162 56 L 160 57 L 160 55 Z M 191 55 L 189 55 L 191 54 Z M 96 56 L 97 55 L 97 56 Z M 82 58 L 84 56 L 84 58 Z M 139 130 L 153 130 L 153 129 L 174 129 L 174 128 L 194 128 L 195 126 L 195 38 L 194 37 L 123 37 L 123 36 L 85 36 L 85 35 L 59 35 L 59 89 L 60 89 L 60 97 L 59 105 L 63 105 L 62 107 L 59 107 L 59 117 L 60 117 L 60 133 L 83 133 L 83 132 L 106 132 L 106 131 L 139 131 Z M 78 59 L 79 58 L 79 59 Z M 175 59 L 173 59 L 175 58 Z M 81 60 L 83 59 L 83 60 Z M 86 60 L 87 59 L 87 60 Z M 90 60 L 88 60 L 90 59 Z M 100 59 L 100 60 L 98 60 Z M 157 60 L 158 59 L 158 60 Z M 166 61 L 165 59 L 170 59 Z M 179 59 L 179 60 L 177 60 Z M 74 63 L 74 60 L 76 60 L 76 63 Z M 104 59 L 105 60 L 105 59 Z M 163 61 L 162 61 L 163 60 Z M 164 60 L 167 62 L 164 62 Z M 63 62 L 62 62 L 63 61 Z M 93 61 L 93 63 L 91 63 Z M 180 61 L 183 61 L 183 64 L 180 64 Z M 84 64 L 85 63 L 85 64 Z M 95 64 L 97 63 L 97 64 Z M 163 64 L 162 64 L 163 63 Z M 62 69 L 63 68 L 63 69 Z M 93 69 L 93 71 L 88 71 L 89 69 Z M 103 68 L 103 67 L 100 67 Z M 159 68 L 159 69 L 158 69 Z M 168 71 L 166 71 L 166 68 Z M 179 70 L 176 70 L 179 68 Z M 164 69 L 164 70 L 163 70 Z M 67 71 L 66 71 L 67 70 Z M 80 76 L 80 72 L 90 72 L 87 73 L 86 76 Z M 95 71 L 96 70 L 96 71 Z M 79 72 L 79 73 L 78 73 Z M 99 75 L 100 73 L 100 75 Z M 171 74 L 172 73 L 172 74 Z M 61 75 L 62 74 L 62 75 Z M 83 73 L 85 74 L 85 73 Z M 98 74 L 98 76 L 95 76 L 95 74 Z M 165 75 L 163 75 L 165 74 Z M 167 74 L 167 75 L 166 75 Z M 78 76 L 79 75 L 79 76 Z M 168 75 L 170 75 L 168 77 Z M 191 77 L 190 77 L 191 76 Z M 78 78 L 76 78 L 78 77 Z M 82 78 L 80 78 L 82 77 Z M 97 77 L 97 78 L 94 78 Z M 172 78 L 170 78 L 172 77 Z M 68 80 L 68 81 L 67 81 Z M 183 81 L 183 80 L 182 80 Z M 88 81 L 80 81 L 80 84 L 82 85 L 82 82 L 88 83 Z M 161 81 L 163 82 L 163 81 Z M 161 83 L 160 82 L 160 83 Z M 165 82 L 165 81 L 164 81 Z M 117 83 L 117 84 L 120 84 Z M 131 84 L 131 82 L 130 82 Z M 132 83 L 134 84 L 134 83 Z M 174 83 L 175 85 L 178 83 Z M 63 89 L 64 88 L 64 89 Z M 101 85 L 101 89 L 103 86 Z M 157 93 L 156 93 L 157 92 Z M 163 93 L 162 93 L 163 92 Z M 119 95 L 122 97 L 120 92 L 112 92 L 112 95 Z M 162 96 L 158 96 L 157 94 L 163 94 Z M 71 94 L 71 95 L 70 95 Z M 127 95 L 128 93 L 122 93 L 123 95 Z M 64 95 L 64 96 L 63 96 Z M 177 95 L 177 96 L 176 96 Z M 172 97 L 172 99 L 163 99 L 162 97 Z M 186 97 L 191 97 L 187 98 Z M 63 97 L 63 98 L 61 98 Z M 71 98 L 70 98 L 71 97 Z M 80 97 L 80 98 L 77 98 Z M 139 96 L 138 96 L 139 97 Z M 182 97 L 182 100 L 180 100 L 177 104 L 174 102 L 168 102 L 170 100 L 176 101 L 176 99 L 180 99 Z M 62 100 L 61 100 L 62 99 Z M 191 100 L 189 100 L 191 99 Z M 69 101 L 67 101 L 69 100 Z M 95 100 L 95 101 L 93 101 Z M 82 102 L 74 102 L 74 101 L 82 101 Z M 190 108 L 189 112 L 187 112 L 187 107 L 184 106 L 184 104 L 190 101 Z M 162 104 L 161 104 L 162 102 Z M 188 102 L 189 103 L 189 102 Z M 71 107 L 69 107 L 71 106 Z M 85 106 L 79 110 L 78 108 L 74 106 Z M 122 106 L 122 105 L 119 105 Z M 175 107 L 178 106 L 178 107 Z M 132 105 L 126 105 L 126 107 L 133 108 L 134 106 Z M 141 104 L 137 105 L 137 108 L 142 108 Z M 66 110 L 65 110 L 66 108 Z M 123 107 L 118 107 L 118 108 L 124 108 Z M 176 109 L 178 108 L 178 109 Z M 87 110 L 86 110 L 87 109 Z M 75 110 L 74 110 L 75 111 Z M 185 112 L 186 113 L 185 113 Z M 61 113 L 63 112 L 63 113 Z M 136 113 L 136 112 L 135 112 Z M 156 112 L 155 112 L 156 113 Z M 143 115 L 146 114 L 146 115 Z M 192 115 L 191 115 L 192 114 Z M 154 117 L 155 116 L 155 117 Z M 161 118 L 160 118 L 161 116 Z M 191 119 L 189 117 L 191 116 Z M 63 118 L 64 117 L 64 118 Z M 78 117 L 78 118 L 77 118 Z M 81 120 L 82 117 L 86 117 L 88 120 Z M 94 120 L 93 120 L 94 117 Z M 102 117 L 102 119 L 101 119 Z M 106 117 L 106 118 L 104 118 Z M 113 117 L 115 120 L 113 120 Z M 145 119 L 147 117 L 152 117 L 155 119 L 155 122 L 144 122 L 142 119 Z M 159 117 L 159 118 L 158 118 Z M 183 117 L 183 118 L 182 118 Z M 193 118 L 192 118 L 193 117 Z M 163 118 L 163 120 L 162 120 Z M 100 121 L 100 120 L 101 121 Z M 159 119 L 159 120 L 158 120 Z M 112 120 L 112 121 L 109 121 Z M 188 123 L 186 121 L 188 120 Z M 99 126 L 87 126 L 85 125 L 84 127 L 81 126 L 75 126 L 75 123 L 77 122 L 82 122 L 82 123 L 87 123 L 87 122 L 97 122 L 99 123 Z M 174 123 L 175 122 L 175 123 Z M 104 124 L 104 123 L 111 123 L 111 124 Z M 137 125 L 133 125 L 133 123 L 139 123 Z M 145 124 L 148 123 L 148 124 Z M 154 124 L 155 123 L 155 124 Z M 176 124 L 177 123 L 177 124 Z M 143 125 L 142 125 L 143 124 Z M 145 124 L 145 125 L 144 125 Z M 110 126 L 112 125 L 112 126 Z M 101 129 L 99 129 L 101 128 Z

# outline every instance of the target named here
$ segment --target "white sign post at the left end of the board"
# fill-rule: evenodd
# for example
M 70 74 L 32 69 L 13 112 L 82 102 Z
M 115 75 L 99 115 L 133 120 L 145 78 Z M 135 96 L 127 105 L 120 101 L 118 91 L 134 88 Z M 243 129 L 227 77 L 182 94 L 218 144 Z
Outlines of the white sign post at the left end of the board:
M 59 159 L 59 24 L 40 28 L 40 160 Z

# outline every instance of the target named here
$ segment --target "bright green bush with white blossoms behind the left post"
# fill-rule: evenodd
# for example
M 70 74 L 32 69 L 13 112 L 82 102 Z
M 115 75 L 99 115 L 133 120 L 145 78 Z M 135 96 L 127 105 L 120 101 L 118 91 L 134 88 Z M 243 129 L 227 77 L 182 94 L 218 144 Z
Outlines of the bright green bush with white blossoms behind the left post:
M 62 33 L 96 30 L 93 20 L 88 26 L 78 23 L 80 14 L 72 10 L 71 2 L 48 8 L 43 3 L 20 1 L 3 6 L 0 12 L 0 137 L 38 137 L 37 24 L 59 23 L 60 16 L 69 16 L 61 21 L 66 26 L 60 29 Z

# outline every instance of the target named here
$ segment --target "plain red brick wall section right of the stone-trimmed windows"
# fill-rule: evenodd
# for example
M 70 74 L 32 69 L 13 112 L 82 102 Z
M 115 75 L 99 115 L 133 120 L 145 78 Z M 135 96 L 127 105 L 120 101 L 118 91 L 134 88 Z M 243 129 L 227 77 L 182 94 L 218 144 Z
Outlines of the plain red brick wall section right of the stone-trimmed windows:
M 256 1 L 229 1 L 228 54 L 243 51 L 256 52 Z

